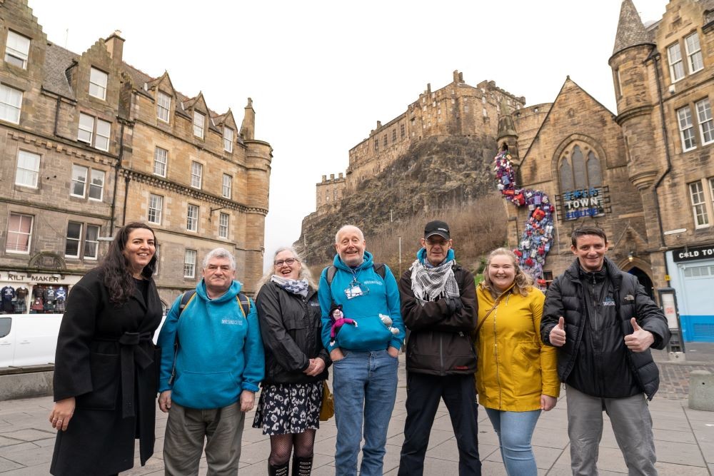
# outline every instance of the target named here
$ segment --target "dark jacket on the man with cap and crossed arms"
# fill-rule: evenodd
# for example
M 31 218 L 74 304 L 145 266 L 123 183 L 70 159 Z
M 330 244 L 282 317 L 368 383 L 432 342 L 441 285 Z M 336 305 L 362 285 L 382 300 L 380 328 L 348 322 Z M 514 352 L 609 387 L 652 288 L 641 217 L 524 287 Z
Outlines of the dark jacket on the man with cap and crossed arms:
M 406 345 L 406 370 L 430 375 L 473 375 L 476 352 L 471 333 L 476 328 L 478 304 L 473 275 L 454 263 L 463 307 L 451 313 L 440 298 L 421 305 L 411 289 L 411 269 L 399 280 L 401 315 L 411 331 Z

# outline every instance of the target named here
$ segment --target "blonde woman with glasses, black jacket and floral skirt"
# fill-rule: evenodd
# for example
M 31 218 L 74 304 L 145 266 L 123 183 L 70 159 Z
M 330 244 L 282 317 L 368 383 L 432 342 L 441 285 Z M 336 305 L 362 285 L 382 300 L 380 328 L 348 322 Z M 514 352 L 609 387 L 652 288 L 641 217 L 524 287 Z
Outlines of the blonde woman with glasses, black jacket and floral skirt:
M 292 474 L 306 476 L 331 362 L 320 337 L 317 286 L 290 247 L 278 248 L 258 286 L 266 376 L 253 427 L 270 435 L 268 475 L 287 476 L 292 453 Z

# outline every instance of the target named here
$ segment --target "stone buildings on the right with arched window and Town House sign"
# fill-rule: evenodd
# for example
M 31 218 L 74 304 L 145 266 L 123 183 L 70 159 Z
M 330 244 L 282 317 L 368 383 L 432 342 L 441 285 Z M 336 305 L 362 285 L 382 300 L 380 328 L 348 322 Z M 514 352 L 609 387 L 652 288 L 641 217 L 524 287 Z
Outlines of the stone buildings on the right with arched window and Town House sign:
M 544 269 L 562 273 L 573 228 L 598 225 L 610 258 L 653 295 L 674 288 L 683 338 L 714 341 L 714 1 L 670 0 L 645 27 L 623 0 L 609 63 L 617 114 L 568 78 L 553 104 L 508 111 L 515 131 L 499 133 L 520 186 L 558 209 Z M 547 113 L 533 134 L 535 108 Z M 573 191 L 592 187 L 600 210 L 578 216 Z M 527 213 L 508 207 L 511 245 Z

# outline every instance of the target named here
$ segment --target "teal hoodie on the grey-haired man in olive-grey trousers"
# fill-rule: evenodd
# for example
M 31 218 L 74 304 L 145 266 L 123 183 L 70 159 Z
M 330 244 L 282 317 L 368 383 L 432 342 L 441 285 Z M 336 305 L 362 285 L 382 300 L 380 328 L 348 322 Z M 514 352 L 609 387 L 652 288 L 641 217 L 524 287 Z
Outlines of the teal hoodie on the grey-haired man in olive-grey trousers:
M 234 280 L 225 294 L 211 300 L 201 280 L 180 319 L 181 296 L 171 306 L 158 340 L 159 392 L 171 390 L 171 400 L 178 405 L 222 408 L 237 402 L 243 390 L 258 391 L 265 372 L 263 341 L 253 300 L 248 317 L 243 317 L 236 299 L 241 287 Z M 176 380 L 169 385 L 177 332 Z

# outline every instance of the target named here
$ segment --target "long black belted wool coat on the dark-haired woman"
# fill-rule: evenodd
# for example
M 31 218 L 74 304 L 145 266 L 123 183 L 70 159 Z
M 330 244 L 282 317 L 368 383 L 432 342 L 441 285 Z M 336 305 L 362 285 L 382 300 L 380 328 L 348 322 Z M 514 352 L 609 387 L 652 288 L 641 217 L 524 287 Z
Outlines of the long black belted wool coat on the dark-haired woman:
M 162 317 L 154 280 L 122 305 L 109 301 L 101 271 L 89 271 L 69 293 L 57 340 L 54 400 L 76 398 L 59 431 L 53 475 L 110 475 L 134 466 L 139 438 L 144 465 L 154 453 L 159 349 L 152 342 Z

